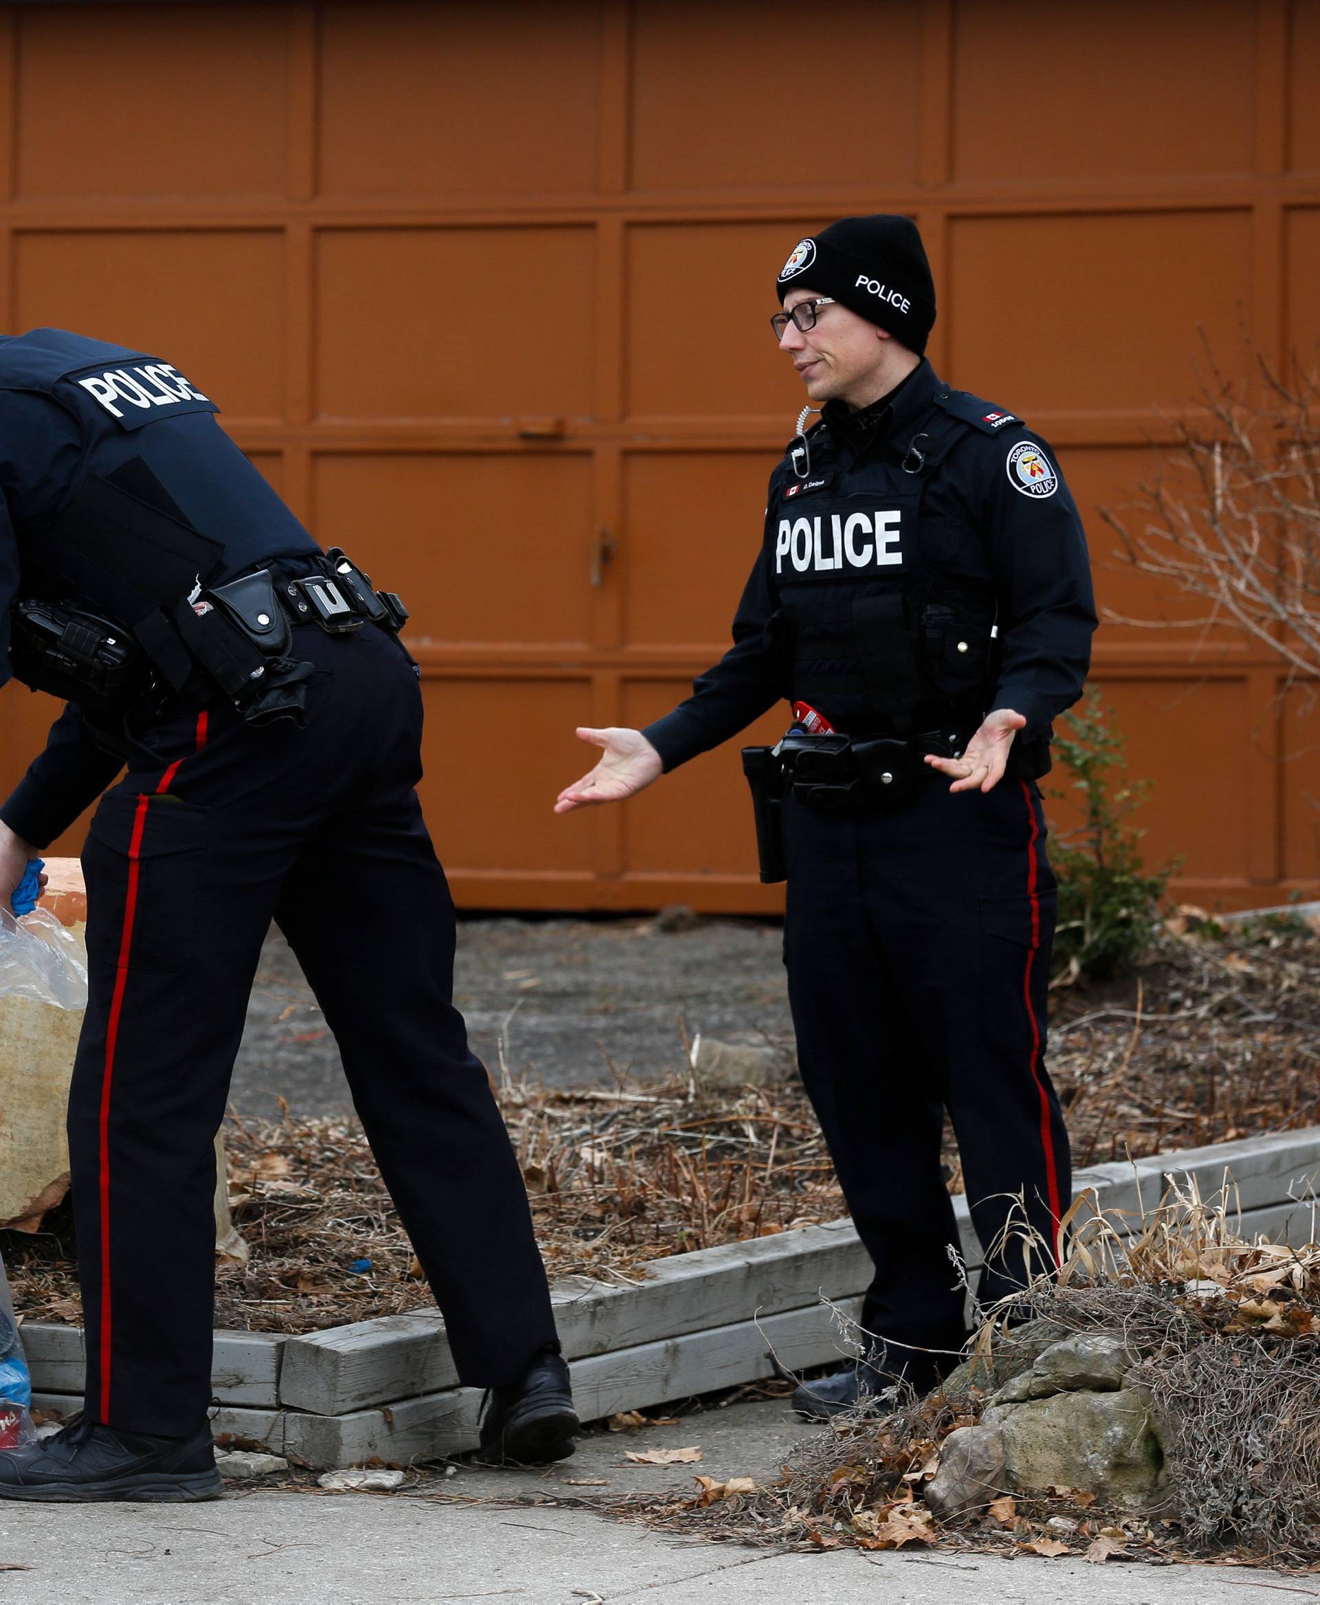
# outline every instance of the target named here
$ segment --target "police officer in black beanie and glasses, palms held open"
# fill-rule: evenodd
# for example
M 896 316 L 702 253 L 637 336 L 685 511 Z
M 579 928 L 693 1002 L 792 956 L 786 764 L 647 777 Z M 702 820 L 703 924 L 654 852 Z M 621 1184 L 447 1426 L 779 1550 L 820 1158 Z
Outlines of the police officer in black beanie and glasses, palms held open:
M 1044 1066 L 1055 881 L 1036 782 L 1095 607 L 1050 448 L 922 355 L 935 286 L 907 218 L 800 241 L 777 291 L 809 408 L 771 475 L 734 645 L 646 730 L 578 730 L 604 753 L 557 811 L 631 796 L 793 703 L 784 742 L 744 762 L 763 880 L 788 883 L 803 1080 L 875 1262 L 867 1353 L 795 1395 L 824 1417 L 899 1377 L 931 1385 L 965 1342 L 946 1111 L 980 1298 L 1057 1262 L 1071 1193 Z M 1021 1207 L 1031 1229 L 1005 1229 Z

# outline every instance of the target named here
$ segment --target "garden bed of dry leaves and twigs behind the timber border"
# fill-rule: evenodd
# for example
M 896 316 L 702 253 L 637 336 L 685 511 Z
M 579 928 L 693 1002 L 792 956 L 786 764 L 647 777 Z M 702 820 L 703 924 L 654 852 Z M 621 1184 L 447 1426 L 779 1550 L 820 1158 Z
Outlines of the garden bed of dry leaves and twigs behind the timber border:
M 1320 941 L 1301 920 L 1232 929 L 1174 916 L 1137 971 L 1053 993 L 1050 1072 L 1078 1168 L 1320 1124 Z M 795 1082 L 501 1095 L 552 1281 L 636 1281 L 649 1260 L 837 1220 L 843 1201 Z M 430 1305 L 361 1128 L 226 1124 L 246 1265 L 223 1265 L 215 1324 L 313 1332 Z M 960 1189 L 949 1143 L 949 1186 Z M 67 1205 L 0 1233 L 18 1308 L 77 1323 Z

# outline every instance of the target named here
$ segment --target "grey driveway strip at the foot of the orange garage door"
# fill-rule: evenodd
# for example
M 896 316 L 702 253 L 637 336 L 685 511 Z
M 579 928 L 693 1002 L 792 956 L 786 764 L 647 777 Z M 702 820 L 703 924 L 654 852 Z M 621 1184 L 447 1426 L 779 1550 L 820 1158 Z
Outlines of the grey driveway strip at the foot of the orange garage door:
M 782 931 L 774 921 L 650 918 L 462 920 L 454 998 L 477 1053 L 495 1067 L 501 1035 L 514 1074 L 554 1085 L 613 1085 L 618 1069 L 655 1079 L 682 1064 L 682 1027 L 734 1042 L 787 1042 Z M 344 1071 L 297 960 L 267 939 L 234 1067 L 233 1101 L 275 1114 L 348 1106 Z

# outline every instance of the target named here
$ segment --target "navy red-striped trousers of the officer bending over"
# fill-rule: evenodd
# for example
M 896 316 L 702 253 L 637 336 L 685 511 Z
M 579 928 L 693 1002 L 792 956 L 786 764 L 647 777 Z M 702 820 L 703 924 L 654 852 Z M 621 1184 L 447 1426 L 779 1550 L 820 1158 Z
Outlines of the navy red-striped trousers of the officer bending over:
M 84 849 L 90 1000 L 69 1103 L 87 1412 L 185 1435 L 210 1401 L 214 1136 L 275 918 L 445 1314 L 459 1377 L 554 1343 L 522 1175 L 453 1006 L 454 913 L 416 791 L 421 692 L 373 626 L 297 631 L 307 727 L 136 729 Z

